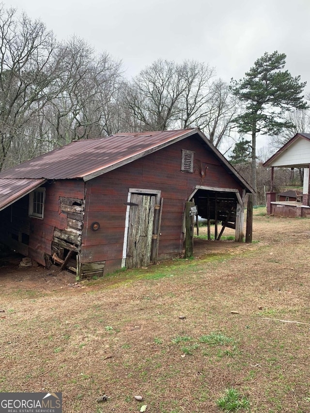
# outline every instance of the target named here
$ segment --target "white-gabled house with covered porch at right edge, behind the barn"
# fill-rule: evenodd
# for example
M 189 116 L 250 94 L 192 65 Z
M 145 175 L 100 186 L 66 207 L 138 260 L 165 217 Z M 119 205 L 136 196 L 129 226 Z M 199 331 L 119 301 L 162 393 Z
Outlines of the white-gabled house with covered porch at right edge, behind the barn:
M 271 156 L 264 164 L 271 168 L 270 192 L 267 193 L 267 214 L 310 217 L 310 134 L 296 133 L 282 148 Z M 304 184 L 302 202 L 276 201 L 276 193 L 273 190 L 274 168 L 303 168 Z

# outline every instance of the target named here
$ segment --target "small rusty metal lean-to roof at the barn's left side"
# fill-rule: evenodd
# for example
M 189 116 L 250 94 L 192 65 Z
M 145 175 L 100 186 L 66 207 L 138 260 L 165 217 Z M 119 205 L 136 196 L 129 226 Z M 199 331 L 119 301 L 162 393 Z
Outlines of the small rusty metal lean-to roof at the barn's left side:
M 45 179 L 0 179 L 0 211 L 42 185 Z

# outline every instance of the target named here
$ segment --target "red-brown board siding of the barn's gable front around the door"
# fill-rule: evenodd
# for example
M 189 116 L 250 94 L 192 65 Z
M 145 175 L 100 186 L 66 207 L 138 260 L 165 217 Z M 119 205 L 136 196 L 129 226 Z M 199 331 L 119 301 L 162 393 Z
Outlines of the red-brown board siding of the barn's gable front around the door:
M 194 169 L 197 160 L 203 168 L 208 167 L 204 179 L 198 170 L 181 171 L 182 149 L 195 152 Z M 105 272 L 120 267 L 129 188 L 161 191 L 164 203 L 158 258 L 178 255 L 183 247 L 185 202 L 196 185 L 233 188 L 242 193 L 241 186 L 213 153 L 193 137 L 86 182 L 81 262 L 106 260 Z M 91 229 L 95 221 L 100 223 L 98 231 Z

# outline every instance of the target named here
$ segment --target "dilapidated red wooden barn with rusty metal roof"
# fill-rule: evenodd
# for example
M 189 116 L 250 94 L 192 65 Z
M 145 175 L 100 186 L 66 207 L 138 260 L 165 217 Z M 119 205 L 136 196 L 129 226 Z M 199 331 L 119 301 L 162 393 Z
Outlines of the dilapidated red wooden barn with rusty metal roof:
M 241 241 L 251 192 L 199 129 L 79 140 L 0 173 L 0 242 L 103 275 L 181 254 L 192 199 Z

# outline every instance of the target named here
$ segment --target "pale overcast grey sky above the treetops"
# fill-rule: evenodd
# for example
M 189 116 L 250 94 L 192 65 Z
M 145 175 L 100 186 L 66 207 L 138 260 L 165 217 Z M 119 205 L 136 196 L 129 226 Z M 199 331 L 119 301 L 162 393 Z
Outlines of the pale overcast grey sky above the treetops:
M 73 34 L 123 61 L 127 76 L 158 58 L 194 59 L 229 82 L 265 51 L 287 55 L 310 91 L 310 0 L 8 0 L 59 40 Z

